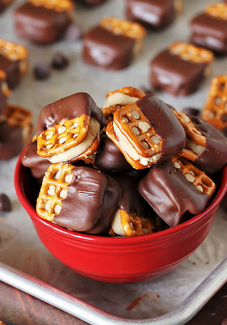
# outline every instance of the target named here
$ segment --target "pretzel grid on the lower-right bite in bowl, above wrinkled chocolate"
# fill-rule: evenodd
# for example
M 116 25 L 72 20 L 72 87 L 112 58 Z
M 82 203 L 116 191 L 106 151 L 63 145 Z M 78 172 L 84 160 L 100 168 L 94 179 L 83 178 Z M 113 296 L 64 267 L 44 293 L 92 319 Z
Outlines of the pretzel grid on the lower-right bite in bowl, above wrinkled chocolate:
M 216 186 L 210 177 L 179 155 L 173 156 L 172 161 L 175 168 L 181 170 L 188 182 L 193 183 L 199 191 L 207 193 L 209 197 L 212 196 Z

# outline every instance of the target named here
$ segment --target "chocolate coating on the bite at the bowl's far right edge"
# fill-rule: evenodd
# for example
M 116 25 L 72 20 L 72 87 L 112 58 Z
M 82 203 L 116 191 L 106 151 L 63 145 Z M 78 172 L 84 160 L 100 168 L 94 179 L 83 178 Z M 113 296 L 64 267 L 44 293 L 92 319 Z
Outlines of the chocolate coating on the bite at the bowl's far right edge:
M 227 163 L 227 139 L 216 127 L 196 116 L 190 116 L 196 128 L 207 138 L 206 150 L 194 164 L 207 174 L 219 171 Z

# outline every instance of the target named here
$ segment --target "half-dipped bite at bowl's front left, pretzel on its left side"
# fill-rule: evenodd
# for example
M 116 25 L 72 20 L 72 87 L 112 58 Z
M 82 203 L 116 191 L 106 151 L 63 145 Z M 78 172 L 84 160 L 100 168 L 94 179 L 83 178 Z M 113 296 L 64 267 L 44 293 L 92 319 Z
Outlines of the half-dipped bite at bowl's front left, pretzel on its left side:
M 69 230 L 101 234 L 121 199 L 121 186 L 111 176 L 89 167 L 50 165 L 43 179 L 36 212 Z

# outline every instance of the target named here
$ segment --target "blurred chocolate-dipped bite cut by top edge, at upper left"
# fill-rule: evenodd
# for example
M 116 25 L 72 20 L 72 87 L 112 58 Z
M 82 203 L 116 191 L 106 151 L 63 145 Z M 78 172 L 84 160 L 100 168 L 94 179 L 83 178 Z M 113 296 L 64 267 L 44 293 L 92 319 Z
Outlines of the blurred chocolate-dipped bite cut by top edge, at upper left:
M 63 35 L 73 10 L 71 0 L 29 0 L 15 11 L 15 31 L 33 43 L 52 43 Z

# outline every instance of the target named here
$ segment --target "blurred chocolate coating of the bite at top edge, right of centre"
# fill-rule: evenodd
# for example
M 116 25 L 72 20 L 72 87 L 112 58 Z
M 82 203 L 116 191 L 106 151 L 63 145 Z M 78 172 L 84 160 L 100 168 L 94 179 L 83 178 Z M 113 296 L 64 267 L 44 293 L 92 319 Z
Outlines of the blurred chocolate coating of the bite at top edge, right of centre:
M 175 16 L 172 0 L 127 0 L 126 17 L 129 20 L 163 28 L 173 21 Z

